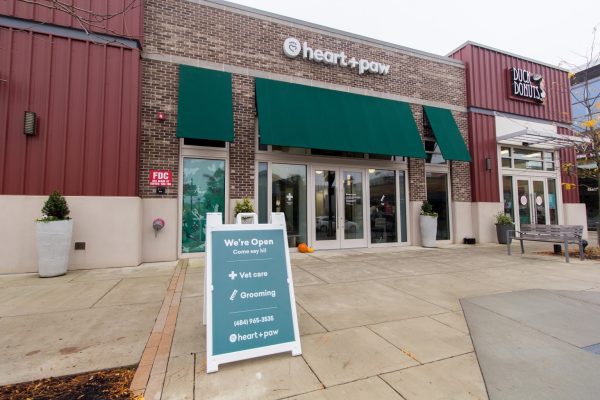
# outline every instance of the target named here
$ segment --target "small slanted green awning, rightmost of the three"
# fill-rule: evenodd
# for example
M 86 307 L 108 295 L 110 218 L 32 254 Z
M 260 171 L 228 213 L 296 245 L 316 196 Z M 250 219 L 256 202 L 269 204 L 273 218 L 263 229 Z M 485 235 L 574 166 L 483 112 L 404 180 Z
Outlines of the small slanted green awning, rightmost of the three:
M 446 160 L 471 161 L 471 155 L 450 110 L 423 106 L 435 140 Z

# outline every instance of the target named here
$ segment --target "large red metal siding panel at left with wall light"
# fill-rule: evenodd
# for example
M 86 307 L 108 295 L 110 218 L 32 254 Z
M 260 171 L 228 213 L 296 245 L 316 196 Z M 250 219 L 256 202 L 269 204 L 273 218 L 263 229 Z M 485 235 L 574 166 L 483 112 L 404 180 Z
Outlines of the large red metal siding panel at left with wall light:
M 0 29 L 0 194 L 135 196 L 139 56 Z M 37 113 L 35 136 L 23 134 L 25 111 Z

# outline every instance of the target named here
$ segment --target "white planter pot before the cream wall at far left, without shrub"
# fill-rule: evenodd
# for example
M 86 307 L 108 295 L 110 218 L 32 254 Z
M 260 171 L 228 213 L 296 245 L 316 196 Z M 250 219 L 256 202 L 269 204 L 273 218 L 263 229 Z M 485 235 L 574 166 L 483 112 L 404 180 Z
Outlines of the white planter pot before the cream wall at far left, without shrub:
M 35 223 L 38 253 L 38 273 L 42 278 L 67 273 L 73 220 Z

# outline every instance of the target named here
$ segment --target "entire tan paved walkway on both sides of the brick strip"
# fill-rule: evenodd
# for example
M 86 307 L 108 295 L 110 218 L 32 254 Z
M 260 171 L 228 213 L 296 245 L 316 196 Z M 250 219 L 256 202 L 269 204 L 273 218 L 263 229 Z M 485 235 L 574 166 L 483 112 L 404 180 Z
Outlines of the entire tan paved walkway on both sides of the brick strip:
M 0 277 L 0 383 L 131 365 L 153 345 L 140 384 L 146 399 L 486 399 L 459 299 L 600 288 L 600 263 L 566 264 L 533 247 L 511 257 L 498 245 L 293 253 L 302 356 L 213 374 L 205 372 L 203 260 Z M 148 381 L 153 370 L 159 384 Z

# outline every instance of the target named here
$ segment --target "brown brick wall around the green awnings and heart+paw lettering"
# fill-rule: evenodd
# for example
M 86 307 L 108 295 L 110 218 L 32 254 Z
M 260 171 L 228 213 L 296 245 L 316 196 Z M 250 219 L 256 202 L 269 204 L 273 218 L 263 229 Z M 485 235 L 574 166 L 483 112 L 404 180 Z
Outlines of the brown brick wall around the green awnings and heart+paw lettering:
M 329 35 L 315 29 L 303 28 L 289 23 L 278 23 L 273 19 L 241 15 L 217 7 L 201 5 L 186 0 L 147 0 L 144 14 L 144 54 L 185 57 L 241 68 L 283 74 L 368 89 L 381 93 L 434 101 L 453 106 L 466 106 L 464 69 L 406 51 L 382 48 L 367 43 Z M 328 66 L 300 58 L 289 59 L 282 52 L 283 41 L 296 37 L 307 41 L 313 48 L 343 50 L 349 57 L 366 58 L 391 65 L 389 75 L 359 75 L 356 69 Z M 177 70 L 160 76 L 164 63 L 145 61 L 144 86 L 153 80 L 156 88 L 143 90 L 143 123 L 141 147 L 140 195 L 153 196 L 147 185 L 147 172 L 160 147 L 166 156 L 165 168 L 177 171 L 178 141 L 174 139 L 177 105 Z M 166 67 L 165 67 L 166 68 Z M 235 141 L 230 145 L 230 198 L 254 196 L 254 148 L 255 148 L 255 103 L 253 78 L 233 74 L 233 106 Z M 418 125 L 422 117 L 420 105 L 413 104 L 413 113 Z M 169 109 L 167 122 L 156 126 L 154 115 L 157 108 Z M 462 117 L 466 121 L 466 117 Z M 466 123 L 461 128 L 466 137 Z M 169 137 L 169 135 L 171 135 Z M 145 142 L 144 142 L 145 141 Z M 158 156 L 158 154 L 156 154 Z M 171 165 L 171 158 L 173 165 Z M 464 185 L 462 172 L 465 166 L 453 164 L 457 190 L 454 198 L 470 199 L 470 184 Z M 468 173 L 468 166 L 466 167 Z M 456 169 L 456 172 L 454 172 Z M 409 192 L 411 200 L 425 198 L 424 163 L 409 161 Z M 468 178 L 468 177 L 467 177 Z M 454 185 L 453 180 L 453 185 Z M 459 184 L 460 183 L 460 184 Z M 468 191 L 467 191 L 468 189 Z M 173 187 L 175 195 L 176 186 Z M 468 201 L 468 200 L 466 200 Z

